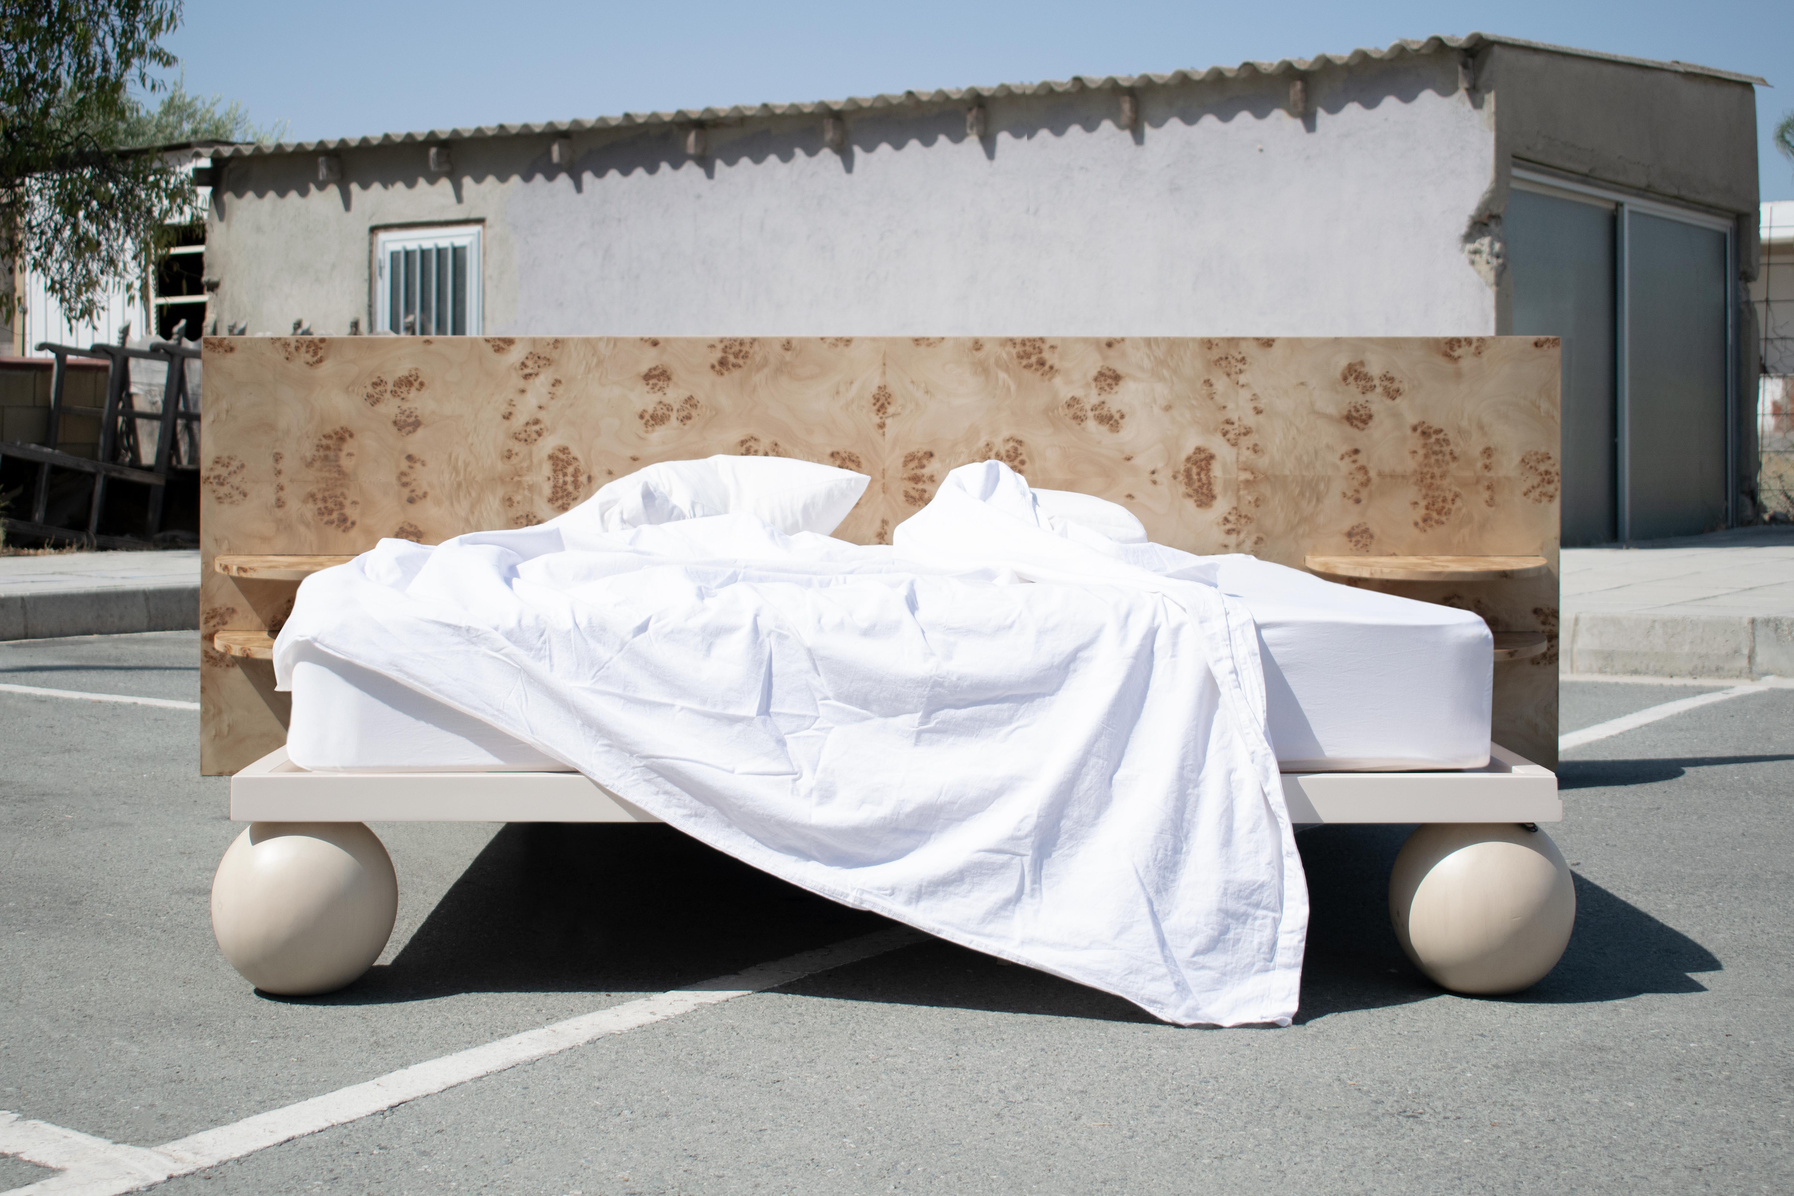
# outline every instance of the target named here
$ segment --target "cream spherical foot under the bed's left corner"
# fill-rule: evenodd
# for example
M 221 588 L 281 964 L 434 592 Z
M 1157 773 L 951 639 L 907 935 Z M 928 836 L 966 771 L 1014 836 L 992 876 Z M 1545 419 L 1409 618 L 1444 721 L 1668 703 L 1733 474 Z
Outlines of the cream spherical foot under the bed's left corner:
M 212 879 L 212 932 L 246 981 L 309 997 L 380 958 L 398 916 L 398 877 L 362 823 L 251 823 Z

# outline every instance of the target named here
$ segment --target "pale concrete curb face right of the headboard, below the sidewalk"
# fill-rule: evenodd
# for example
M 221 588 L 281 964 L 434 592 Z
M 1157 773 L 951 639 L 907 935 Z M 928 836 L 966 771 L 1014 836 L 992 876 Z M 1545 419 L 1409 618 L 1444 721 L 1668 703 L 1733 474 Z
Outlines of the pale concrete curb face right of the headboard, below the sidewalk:
M 1577 613 L 1564 624 L 1561 654 L 1566 672 L 1794 676 L 1794 619 Z

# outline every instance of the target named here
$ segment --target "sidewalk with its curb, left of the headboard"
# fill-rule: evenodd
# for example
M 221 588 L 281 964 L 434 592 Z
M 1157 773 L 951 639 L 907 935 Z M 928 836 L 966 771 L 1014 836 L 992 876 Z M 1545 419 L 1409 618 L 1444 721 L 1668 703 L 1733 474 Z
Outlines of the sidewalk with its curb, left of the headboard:
M 0 556 L 0 640 L 199 628 L 199 552 Z

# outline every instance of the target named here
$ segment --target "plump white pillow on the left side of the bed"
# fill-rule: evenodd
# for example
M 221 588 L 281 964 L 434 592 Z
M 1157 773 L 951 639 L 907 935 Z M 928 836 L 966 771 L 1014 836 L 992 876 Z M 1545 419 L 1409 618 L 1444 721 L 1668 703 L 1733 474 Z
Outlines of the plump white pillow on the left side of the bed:
M 788 536 L 827 536 L 865 493 L 865 473 L 789 457 L 662 461 L 605 484 L 554 524 L 624 531 L 707 515 L 757 515 Z

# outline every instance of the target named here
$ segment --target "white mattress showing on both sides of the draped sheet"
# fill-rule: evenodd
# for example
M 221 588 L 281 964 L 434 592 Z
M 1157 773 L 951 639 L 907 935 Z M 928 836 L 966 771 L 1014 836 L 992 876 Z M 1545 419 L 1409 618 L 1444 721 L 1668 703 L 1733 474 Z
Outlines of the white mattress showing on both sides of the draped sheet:
M 1270 742 L 1286 773 L 1489 762 L 1493 640 L 1469 611 L 1354 590 L 1252 558 L 1220 588 L 1259 628 Z M 310 647 L 287 755 L 314 771 L 570 771 L 529 744 Z

